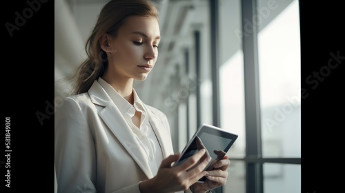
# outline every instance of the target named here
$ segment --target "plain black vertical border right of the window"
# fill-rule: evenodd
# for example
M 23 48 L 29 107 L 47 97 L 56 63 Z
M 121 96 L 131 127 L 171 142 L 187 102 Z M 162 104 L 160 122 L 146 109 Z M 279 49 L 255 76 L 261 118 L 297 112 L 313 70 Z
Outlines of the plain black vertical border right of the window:
M 302 56 L 302 192 L 343 190 L 344 59 L 342 1 L 299 1 Z M 316 73 L 316 74 L 315 74 Z M 319 74 L 317 74 L 319 73 Z M 319 79 L 316 76 L 319 75 Z M 311 76 L 315 76 L 311 78 Z M 309 80 L 309 81 L 308 81 Z M 293 143 L 293 142 L 292 142 Z

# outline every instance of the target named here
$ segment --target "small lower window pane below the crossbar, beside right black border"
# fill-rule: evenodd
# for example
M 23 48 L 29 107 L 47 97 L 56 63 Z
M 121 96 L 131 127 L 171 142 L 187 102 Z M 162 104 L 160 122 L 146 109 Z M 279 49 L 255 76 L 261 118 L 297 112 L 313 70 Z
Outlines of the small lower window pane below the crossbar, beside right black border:
M 300 193 L 301 165 L 264 163 L 265 193 Z

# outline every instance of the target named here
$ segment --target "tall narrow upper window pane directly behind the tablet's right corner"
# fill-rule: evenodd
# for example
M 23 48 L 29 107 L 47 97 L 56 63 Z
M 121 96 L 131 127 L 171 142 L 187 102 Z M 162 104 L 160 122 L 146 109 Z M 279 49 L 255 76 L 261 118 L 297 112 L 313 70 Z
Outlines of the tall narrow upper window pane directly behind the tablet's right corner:
M 239 135 L 230 157 L 245 155 L 244 69 L 240 1 L 219 1 L 219 105 L 221 128 Z

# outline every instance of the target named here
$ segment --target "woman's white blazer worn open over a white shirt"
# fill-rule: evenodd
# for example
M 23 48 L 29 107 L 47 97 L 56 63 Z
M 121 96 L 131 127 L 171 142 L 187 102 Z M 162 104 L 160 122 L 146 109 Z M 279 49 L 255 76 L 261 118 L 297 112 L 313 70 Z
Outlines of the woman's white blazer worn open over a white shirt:
M 164 158 L 174 154 L 166 115 L 145 105 Z M 148 157 L 108 94 L 95 81 L 55 112 L 57 192 L 140 193 L 153 177 Z M 190 192 L 190 191 L 187 191 Z

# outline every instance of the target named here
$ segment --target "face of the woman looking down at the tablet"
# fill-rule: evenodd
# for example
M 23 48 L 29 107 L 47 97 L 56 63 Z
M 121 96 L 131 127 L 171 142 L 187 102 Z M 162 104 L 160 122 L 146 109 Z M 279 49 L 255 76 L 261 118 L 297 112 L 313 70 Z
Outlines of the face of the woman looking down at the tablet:
M 157 61 L 159 40 L 155 17 L 128 17 L 117 37 L 109 39 L 108 77 L 120 81 L 145 80 Z

